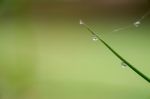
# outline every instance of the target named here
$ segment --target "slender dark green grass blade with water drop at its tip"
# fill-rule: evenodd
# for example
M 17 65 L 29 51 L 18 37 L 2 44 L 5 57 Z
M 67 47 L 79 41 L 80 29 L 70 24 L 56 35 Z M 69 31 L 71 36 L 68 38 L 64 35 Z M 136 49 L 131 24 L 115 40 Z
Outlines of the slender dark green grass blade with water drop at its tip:
M 115 50 L 113 50 L 103 39 L 101 39 L 100 36 L 98 36 L 95 32 L 93 32 L 93 30 L 90 29 L 88 25 L 86 25 L 85 23 L 83 23 L 81 20 L 80 20 L 80 24 L 83 25 L 92 35 L 94 35 L 95 37 L 97 37 L 97 39 L 100 42 L 102 42 L 116 57 L 118 57 L 122 62 L 124 62 L 134 72 L 136 72 L 139 76 L 141 76 L 143 79 L 145 79 L 147 82 L 150 83 L 150 79 L 145 74 L 143 74 L 142 72 L 140 72 L 132 64 L 130 64 L 127 60 L 125 60 L 122 56 L 120 56 Z

